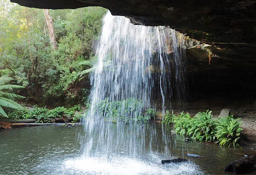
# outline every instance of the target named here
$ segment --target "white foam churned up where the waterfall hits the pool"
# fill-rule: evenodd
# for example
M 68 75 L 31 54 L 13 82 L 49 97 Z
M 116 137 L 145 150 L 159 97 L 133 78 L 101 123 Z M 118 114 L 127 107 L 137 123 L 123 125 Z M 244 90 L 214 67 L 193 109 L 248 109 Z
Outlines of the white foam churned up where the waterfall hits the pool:
M 106 158 L 78 158 L 64 163 L 64 169 L 84 174 L 203 174 L 193 163 L 159 164 L 131 158 L 108 161 Z

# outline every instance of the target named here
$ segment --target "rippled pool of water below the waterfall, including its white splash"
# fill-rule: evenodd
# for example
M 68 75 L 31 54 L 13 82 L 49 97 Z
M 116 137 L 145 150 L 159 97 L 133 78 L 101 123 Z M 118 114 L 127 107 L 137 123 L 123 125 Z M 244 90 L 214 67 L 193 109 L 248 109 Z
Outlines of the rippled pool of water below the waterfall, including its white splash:
M 152 125 L 154 131 L 148 127 Z M 145 149 L 148 151 L 136 157 L 124 154 L 118 158 L 115 155 L 84 157 L 79 138 L 82 126 L 0 130 L 0 170 L 3 174 L 224 174 L 223 169 L 230 162 L 256 154 L 255 150 L 185 141 L 184 137 L 173 134 L 172 129 L 159 123 L 145 125 Z M 151 132 L 155 132 L 154 141 L 150 140 Z M 166 144 L 170 151 L 168 156 Z M 204 157 L 188 157 L 188 153 Z M 163 159 L 178 157 L 190 161 L 161 164 Z

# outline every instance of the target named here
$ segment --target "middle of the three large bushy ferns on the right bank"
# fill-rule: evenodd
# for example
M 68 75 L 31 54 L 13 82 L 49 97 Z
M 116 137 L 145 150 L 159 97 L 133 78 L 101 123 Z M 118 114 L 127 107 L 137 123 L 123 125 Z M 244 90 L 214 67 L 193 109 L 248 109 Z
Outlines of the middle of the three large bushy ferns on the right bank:
M 212 111 L 198 112 L 192 122 L 190 133 L 199 141 L 213 141 L 214 132 L 217 126 L 215 120 L 212 119 Z M 195 129 L 195 130 L 194 130 Z

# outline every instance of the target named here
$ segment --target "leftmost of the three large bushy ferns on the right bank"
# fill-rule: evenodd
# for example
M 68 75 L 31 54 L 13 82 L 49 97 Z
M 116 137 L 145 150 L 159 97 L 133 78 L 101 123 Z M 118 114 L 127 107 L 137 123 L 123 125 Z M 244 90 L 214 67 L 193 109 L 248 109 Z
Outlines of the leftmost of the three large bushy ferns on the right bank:
M 191 128 L 193 118 L 190 117 L 190 114 L 186 114 L 182 111 L 178 117 L 174 118 L 174 128 L 175 132 L 180 135 L 188 135 L 188 130 Z

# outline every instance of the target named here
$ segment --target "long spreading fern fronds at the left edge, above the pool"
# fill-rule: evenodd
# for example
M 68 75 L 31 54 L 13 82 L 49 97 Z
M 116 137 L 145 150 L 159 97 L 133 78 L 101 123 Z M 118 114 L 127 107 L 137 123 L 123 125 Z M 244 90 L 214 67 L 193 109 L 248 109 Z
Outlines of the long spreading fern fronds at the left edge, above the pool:
M 25 88 L 19 85 L 6 84 L 11 80 L 15 80 L 11 77 L 0 77 L 0 115 L 8 118 L 8 115 L 4 110 L 22 110 L 23 107 L 17 102 L 13 101 L 14 99 L 25 98 L 21 95 L 12 93 L 16 89 Z

